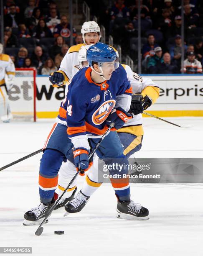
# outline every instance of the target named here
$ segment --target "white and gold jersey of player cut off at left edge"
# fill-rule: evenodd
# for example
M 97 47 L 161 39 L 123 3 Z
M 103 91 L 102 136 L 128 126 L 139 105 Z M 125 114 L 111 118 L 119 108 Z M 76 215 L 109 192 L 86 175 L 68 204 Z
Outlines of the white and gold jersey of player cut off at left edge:
M 15 66 L 9 55 L 0 54 L 0 86 L 5 84 L 5 74 L 10 78 L 14 77 Z

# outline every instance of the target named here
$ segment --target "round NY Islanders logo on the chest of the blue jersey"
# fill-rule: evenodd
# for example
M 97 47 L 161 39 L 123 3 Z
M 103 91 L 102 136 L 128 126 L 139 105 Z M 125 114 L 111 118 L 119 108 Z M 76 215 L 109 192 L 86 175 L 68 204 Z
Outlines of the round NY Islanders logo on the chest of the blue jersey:
M 104 120 L 107 119 L 108 115 L 112 112 L 115 104 L 115 100 L 107 100 L 102 103 L 101 106 L 92 115 L 92 122 L 95 125 L 100 125 L 101 123 L 103 123 Z

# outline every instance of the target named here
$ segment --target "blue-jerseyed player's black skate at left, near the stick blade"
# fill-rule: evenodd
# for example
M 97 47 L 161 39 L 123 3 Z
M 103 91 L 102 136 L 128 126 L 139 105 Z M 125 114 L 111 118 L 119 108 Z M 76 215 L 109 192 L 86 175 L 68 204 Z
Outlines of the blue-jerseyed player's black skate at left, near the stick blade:
M 54 202 L 55 202 L 54 198 L 51 202 L 49 202 L 47 204 L 43 204 L 41 202 L 40 205 L 38 205 L 37 207 L 32 208 L 28 212 L 25 212 L 25 214 L 24 214 L 25 220 L 23 221 L 23 225 L 30 226 L 30 225 L 40 224 L 42 222 L 42 220 L 44 219 L 47 210 L 52 207 Z M 46 223 L 48 223 L 48 219 L 45 221 L 44 224 L 46 224 Z

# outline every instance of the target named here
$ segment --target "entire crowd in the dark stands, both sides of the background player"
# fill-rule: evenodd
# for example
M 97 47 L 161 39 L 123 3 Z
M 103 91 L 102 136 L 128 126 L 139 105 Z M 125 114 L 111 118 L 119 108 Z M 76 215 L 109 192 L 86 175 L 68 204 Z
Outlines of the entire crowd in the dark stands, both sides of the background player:
M 112 35 L 122 54 L 137 63 L 138 0 L 86 0 L 98 23 Z M 70 24 L 51 0 L 5 0 L 5 53 L 15 67 L 48 74 L 60 67 L 70 45 Z M 108 6 L 112 3 L 111 6 Z M 181 0 L 141 0 L 142 73 L 181 73 Z M 202 73 L 203 1 L 184 0 L 184 69 Z M 74 44 L 83 43 L 73 28 Z

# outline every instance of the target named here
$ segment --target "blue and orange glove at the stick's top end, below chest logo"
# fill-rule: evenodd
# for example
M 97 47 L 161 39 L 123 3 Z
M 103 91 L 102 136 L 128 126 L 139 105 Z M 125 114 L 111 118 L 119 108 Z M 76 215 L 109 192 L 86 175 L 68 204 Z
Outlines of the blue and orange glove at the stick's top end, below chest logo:
M 112 113 L 108 116 L 105 124 L 110 125 L 111 123 L 114 123 L 114 128 L 120 129 L 124 123 L 126 123 L 131 118 L 131 114 L 127 113 L 124 109 L 119 107 L 112 111 Z

